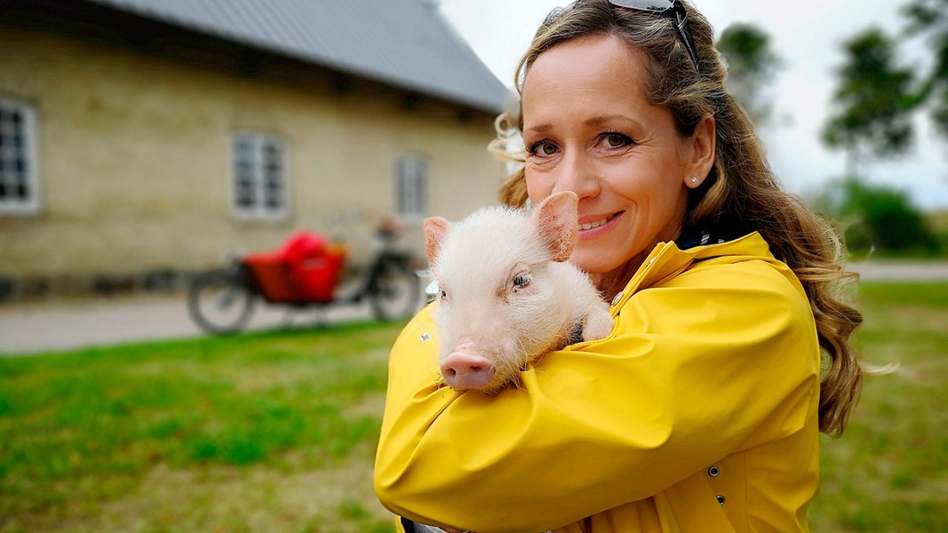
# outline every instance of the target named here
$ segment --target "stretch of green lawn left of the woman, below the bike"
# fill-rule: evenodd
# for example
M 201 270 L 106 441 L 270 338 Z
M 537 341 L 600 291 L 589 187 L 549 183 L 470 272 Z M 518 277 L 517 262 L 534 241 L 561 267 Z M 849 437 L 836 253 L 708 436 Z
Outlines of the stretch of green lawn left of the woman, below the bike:
M 396 324 L 0 358 L 0 531 L 391 531 Z

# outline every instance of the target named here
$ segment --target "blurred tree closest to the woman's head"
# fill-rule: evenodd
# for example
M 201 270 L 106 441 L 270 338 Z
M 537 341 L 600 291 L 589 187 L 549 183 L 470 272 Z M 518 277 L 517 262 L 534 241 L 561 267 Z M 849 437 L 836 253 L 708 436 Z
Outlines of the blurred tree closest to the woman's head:
M 736 23 L 724 30 L 718 50 L 727 61 L 728 91 L 744 106 L 757 124 L 773 113 L 764 87 L 774 79 L 780 58 L 771 47 L 770 35 L 751 24 Z

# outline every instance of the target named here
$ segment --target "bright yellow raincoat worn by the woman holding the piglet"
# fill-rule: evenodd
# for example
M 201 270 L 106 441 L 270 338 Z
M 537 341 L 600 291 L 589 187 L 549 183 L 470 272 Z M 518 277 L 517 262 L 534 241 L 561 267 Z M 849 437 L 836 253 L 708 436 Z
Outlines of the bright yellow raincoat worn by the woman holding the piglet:
M 760 235 L 660 244 L 611 313 L 485 397 L 439 387 L 423 311 L 392 349 L 381 502 L 478 533 L 807 531 L 820 349 Z

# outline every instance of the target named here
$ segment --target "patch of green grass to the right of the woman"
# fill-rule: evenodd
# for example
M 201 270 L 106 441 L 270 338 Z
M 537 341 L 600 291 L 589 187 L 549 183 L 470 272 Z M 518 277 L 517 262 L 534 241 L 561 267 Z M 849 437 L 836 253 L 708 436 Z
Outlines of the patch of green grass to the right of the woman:
M 948 531 L 948 283 L 863 284 L 866 377 L 846 433 L 823 437 L 813 531 Z

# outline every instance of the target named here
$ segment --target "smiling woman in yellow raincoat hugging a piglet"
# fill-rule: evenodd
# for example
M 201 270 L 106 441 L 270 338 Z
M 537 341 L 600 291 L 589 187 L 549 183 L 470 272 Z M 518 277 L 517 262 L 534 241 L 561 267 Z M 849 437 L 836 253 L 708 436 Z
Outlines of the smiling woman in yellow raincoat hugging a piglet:
M 807 530 L 862 318 L 831 293 L 832 230 L 779 190 L 724 92 L 712 28 L 666 4 L 579 0 L 520 64 L 524 167 L 501 197 L 579 195 L 571 259 L 614 327 L 485 397 L 438 387 L 428 311 L 411 322 L 375 470 L 407 530 Z

